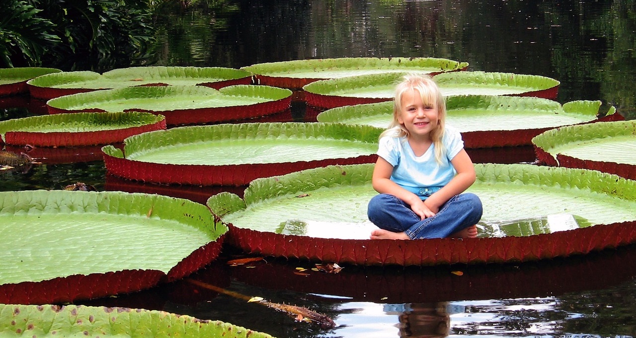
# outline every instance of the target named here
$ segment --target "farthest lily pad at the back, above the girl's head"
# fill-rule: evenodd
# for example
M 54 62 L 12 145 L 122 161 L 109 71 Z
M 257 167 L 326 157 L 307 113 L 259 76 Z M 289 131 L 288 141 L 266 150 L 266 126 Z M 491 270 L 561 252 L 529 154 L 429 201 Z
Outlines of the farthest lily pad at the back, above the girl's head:
M 387 72 L 421 72 L 431 75 L 460 71 L 467 62 L 445 58 L 322 58 L 268 62 L 242 67 L 256 76 L 261 85 L 299 90 L 308 83 L 323 79 L 344 78 Z

